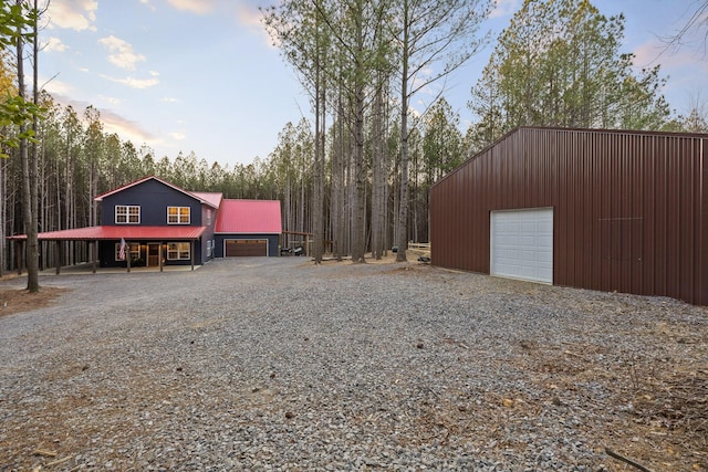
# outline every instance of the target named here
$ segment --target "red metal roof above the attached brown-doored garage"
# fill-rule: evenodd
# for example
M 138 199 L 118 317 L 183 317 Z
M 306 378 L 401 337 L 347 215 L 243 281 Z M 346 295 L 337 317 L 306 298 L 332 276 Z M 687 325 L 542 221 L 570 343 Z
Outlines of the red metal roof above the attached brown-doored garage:
M 216 232 L 280 234 L 280 201 L 225 199 L 217 217 Z

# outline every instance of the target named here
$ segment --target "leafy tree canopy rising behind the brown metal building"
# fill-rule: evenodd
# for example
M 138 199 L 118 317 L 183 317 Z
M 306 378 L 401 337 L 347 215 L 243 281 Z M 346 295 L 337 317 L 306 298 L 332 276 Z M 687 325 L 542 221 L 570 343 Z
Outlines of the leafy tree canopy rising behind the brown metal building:
M 522 125 L 660 129 L 666 78 L 621 52 L 624 21 L 589 0 L 525 0 L 472 87 L 473 143 Z

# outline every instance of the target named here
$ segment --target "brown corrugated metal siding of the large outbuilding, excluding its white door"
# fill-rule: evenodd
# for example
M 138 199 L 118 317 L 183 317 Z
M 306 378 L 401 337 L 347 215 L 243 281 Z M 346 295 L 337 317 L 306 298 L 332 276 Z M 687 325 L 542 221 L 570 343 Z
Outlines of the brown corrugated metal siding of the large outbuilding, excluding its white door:
M 706 305 L 706 139 L 519 128 L 430 190 L 433 263 L 489 273 L 490 211 L 552 207 L 555 284 Z

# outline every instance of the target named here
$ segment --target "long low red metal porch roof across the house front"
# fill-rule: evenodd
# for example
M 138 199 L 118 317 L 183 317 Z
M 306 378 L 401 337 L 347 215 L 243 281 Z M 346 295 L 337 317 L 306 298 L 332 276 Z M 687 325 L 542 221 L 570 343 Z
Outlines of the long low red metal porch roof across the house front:
M 201 237 L 207 227 L 138 227 L 108 225 L 76 228 L 73 230 L 48 231 L 39 233 L 40 241 L 94 241 L 94 240 L 194 240 Z M 24 240 L 27 234 L 9 237 L 10 240 Z

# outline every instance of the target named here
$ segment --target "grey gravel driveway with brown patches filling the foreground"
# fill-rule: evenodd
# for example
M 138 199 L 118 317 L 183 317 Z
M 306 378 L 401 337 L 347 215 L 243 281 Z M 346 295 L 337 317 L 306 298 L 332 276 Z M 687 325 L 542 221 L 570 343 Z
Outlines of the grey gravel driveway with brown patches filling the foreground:
M 302 258 L 41 283 L 1 471 L 708 470 L 705 307 Z

